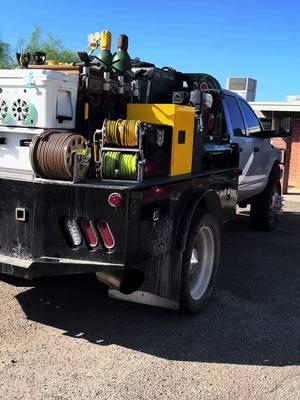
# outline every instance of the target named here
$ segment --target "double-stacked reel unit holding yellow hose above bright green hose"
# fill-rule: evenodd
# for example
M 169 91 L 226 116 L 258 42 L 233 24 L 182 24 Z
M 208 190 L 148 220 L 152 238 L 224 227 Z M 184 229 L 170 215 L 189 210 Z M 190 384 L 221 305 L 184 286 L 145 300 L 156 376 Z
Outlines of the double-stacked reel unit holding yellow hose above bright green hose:
M 94 135 L 97 175 L 100 179 L 141 182 L 168 175 L 172 127 L 139 119 L 105 119 Z

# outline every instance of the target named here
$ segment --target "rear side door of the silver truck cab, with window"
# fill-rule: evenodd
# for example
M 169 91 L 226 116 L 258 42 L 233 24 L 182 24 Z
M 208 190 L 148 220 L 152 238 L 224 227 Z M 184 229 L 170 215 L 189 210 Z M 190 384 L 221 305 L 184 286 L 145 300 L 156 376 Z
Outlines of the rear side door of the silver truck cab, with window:
M 238 201 L 252 197 L 252 182 L 254 176 L 253 140 L 248 136 L 248 130 L 234 95 L 225 94 L 225 115 L 232 143 L 238 143 L 240 148 L 239 167 L 242 174 L 239 177 Z

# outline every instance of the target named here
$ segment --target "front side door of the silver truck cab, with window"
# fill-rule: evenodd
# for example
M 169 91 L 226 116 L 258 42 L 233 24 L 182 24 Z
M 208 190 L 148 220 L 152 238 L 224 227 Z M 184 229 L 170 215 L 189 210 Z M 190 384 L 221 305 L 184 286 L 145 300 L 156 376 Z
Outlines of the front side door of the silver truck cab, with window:
M 246 122 L 247 135 L 251 138 L 253 144 L 253 181 L 251 186 L 255 193 L 260 193 L 268 183 L 269 173 L 273 165 L 272 146 L 270 139 L 259 136 L 262 127 L 249 104 L 240 98 L 238 99 L 238 103 Z

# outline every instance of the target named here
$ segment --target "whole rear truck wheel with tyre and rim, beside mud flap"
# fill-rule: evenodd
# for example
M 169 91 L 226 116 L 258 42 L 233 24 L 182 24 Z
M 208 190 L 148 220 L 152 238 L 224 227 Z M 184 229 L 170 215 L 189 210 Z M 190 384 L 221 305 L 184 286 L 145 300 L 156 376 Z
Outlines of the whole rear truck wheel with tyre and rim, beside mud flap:
M 201 311 L 212 296 L 220 259 L 221 234 L 216 217 L 201 211 L 194 217 L 183 253 L 180 306 Z

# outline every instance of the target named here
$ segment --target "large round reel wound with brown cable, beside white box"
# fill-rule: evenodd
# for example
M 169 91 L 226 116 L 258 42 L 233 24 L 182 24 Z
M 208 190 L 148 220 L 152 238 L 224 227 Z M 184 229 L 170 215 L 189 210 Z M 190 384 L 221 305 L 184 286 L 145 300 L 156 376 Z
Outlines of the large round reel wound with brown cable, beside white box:
M 86 139 L 76 133 L 47 132 L 36 136 L 30 146 L 30 161 L 37 176 L 72 180 L 74 154 L 86 147 Z

